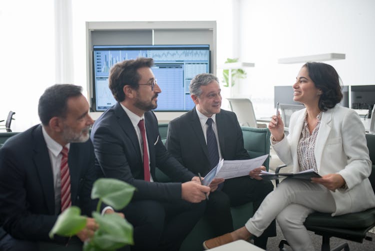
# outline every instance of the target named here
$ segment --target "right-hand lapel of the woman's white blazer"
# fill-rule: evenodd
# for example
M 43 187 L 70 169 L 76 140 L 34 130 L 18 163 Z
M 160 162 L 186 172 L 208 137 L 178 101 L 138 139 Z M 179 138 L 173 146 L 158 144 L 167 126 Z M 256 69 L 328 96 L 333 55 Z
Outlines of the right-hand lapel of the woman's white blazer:
M 325 145 L 325 142 L 327 141 L 331 126 L 330 122 L 332 120 L 332 110 L 329 109 L 326 112 L 323 112 L 320 120 L 320 126 L 319 131 L 316 136 L 315 141 L 315 160 L 316 160 L 316 167 L 319 171 L 320 169 L 320 163 L 321 163 L 321 155 L 323 154 L 323 148 Z

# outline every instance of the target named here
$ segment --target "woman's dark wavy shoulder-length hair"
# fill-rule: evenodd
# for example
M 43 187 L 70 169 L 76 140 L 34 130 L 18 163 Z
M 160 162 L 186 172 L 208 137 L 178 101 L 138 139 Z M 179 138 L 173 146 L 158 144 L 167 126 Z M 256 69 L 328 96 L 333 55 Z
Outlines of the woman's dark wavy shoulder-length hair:
M 332 66 L 311 62 L 304 64 L 302 67 L 307 68 L 308 76 L 315 87 L 322 92 L 318 103 L 321 111 L 326 111 L 333 108 L 337 103 L 340 103 L 342 99 L 341 79 Z

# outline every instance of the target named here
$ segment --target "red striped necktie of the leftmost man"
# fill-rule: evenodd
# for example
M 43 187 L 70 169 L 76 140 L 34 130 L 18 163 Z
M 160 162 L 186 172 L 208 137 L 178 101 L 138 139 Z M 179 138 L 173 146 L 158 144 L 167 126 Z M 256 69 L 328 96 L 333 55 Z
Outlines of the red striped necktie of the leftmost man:
M 67 165 L 67 152 L 68 149 L 64 146 L 61 150 L 61 167 L 60 167 L 60 179 L 61 179 L 61 212 L 71 205 L 70 199 L 70 174 L 69 167 Z

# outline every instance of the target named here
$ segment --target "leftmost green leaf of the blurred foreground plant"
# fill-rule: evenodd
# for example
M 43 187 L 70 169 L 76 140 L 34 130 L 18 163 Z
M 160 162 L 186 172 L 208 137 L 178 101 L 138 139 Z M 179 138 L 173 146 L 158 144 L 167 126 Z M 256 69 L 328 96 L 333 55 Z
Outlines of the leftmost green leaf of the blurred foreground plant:
M 49 231 L 49 237 L 54 234 L 62 236 L 72 236 L 82 230 L 86 225 L 86 217 L 80 215 L 80 209 L 71 206 L 64 210 L 57 218 L 52 229 Z

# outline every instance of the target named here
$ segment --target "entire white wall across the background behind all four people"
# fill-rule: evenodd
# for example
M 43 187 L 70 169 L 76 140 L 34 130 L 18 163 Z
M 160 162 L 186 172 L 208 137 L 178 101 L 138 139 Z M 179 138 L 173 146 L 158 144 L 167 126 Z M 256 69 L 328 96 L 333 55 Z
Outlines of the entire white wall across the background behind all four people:
M 278 58 L 345 53 L 327 62 L 343 84 L 375 84 L 374 11 L 373 0 L 72 0 L 74 84 L 86 89 L 86 21 L 216 20 L 217 63 L 238 56 L 255 63 L 234 94 L 251 97 L 257 116 L 269 115 L 273 86 L 292 84 L 302 65 Z M 0 120 L 15 111 L 14 131 L 39 122 L 37 101 L 55 81 L 53 14 L 50 0 L 0 4 Z

